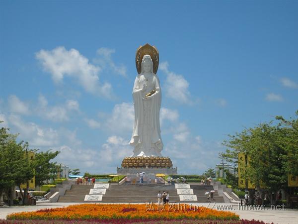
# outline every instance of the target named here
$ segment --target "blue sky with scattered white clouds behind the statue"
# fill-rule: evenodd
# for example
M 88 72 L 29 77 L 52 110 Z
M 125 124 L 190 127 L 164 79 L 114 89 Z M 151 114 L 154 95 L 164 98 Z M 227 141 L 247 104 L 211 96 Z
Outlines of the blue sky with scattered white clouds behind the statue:
M 132 133 L 135 53 L 159 50 L 162 154 L 179 173 L 298 110 L 297 1 L 0 1 L 0 114 L 31 148 L 113 173 Z

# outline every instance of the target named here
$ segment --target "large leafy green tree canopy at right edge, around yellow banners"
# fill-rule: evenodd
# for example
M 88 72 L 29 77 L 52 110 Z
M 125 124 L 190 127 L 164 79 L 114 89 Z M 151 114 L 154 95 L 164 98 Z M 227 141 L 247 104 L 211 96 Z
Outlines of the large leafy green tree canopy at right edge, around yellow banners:
M 298 112 L 296 113 L 298 115 Z M 277 116 L 276 121 L 261 123 L 253 128 L 246 128 L 235 135 L 228 135 L 224 141 L 224 155 L 237 164 L 239 152 L 250 157 L 250 167 L 246 168 L 246 178 L 260 189 L 264 183 L 265 190 L 271 195 L 272 204 L 277 191 L 288 187 L 288 173 L 298 175 L 298 119 L 286 120 Z

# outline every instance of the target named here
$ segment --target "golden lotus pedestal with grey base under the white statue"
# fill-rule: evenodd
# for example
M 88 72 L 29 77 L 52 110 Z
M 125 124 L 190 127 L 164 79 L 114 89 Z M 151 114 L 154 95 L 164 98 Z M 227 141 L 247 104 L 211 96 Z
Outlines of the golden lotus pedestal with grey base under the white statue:
M 146 173 L 177 174 L 169 157 L 125 157 L 121 167 L 117 168 L 118 174 L 134 174 L 145 171 Z

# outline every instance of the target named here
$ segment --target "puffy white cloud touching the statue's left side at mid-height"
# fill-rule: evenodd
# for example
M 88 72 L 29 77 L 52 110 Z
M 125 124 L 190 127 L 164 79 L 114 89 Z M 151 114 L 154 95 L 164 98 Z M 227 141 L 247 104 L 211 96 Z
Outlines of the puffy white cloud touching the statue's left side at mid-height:
M 116 104 L 105 126 L 115 133 L 123 133 L 133 130 L 134 120 L 135 112 L 133 104 Z

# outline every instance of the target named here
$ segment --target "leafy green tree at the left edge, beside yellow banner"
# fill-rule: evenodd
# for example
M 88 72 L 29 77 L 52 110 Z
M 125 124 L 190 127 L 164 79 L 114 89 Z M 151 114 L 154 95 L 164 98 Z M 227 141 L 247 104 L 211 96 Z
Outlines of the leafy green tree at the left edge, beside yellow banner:
M 55 176 L 55 163 L 50 160 L 55 158 L 59 152 L 38 152 L 30 150 L 27 142 L 17 142 L 17 135 L 8 133 L 9 129 L 0 129 L 0 195 L 4 193 L 8 199 L 8 204 L 12 205 L 15 186 L 20 189 L 21 184 L 26 184 L 34 175 L 36 185 L 42 185 L 43 181 Z M 35 152 L 35 159 L 29 161 L 27 153 Z M 25 202 L 23 200 L 23 202 Z

